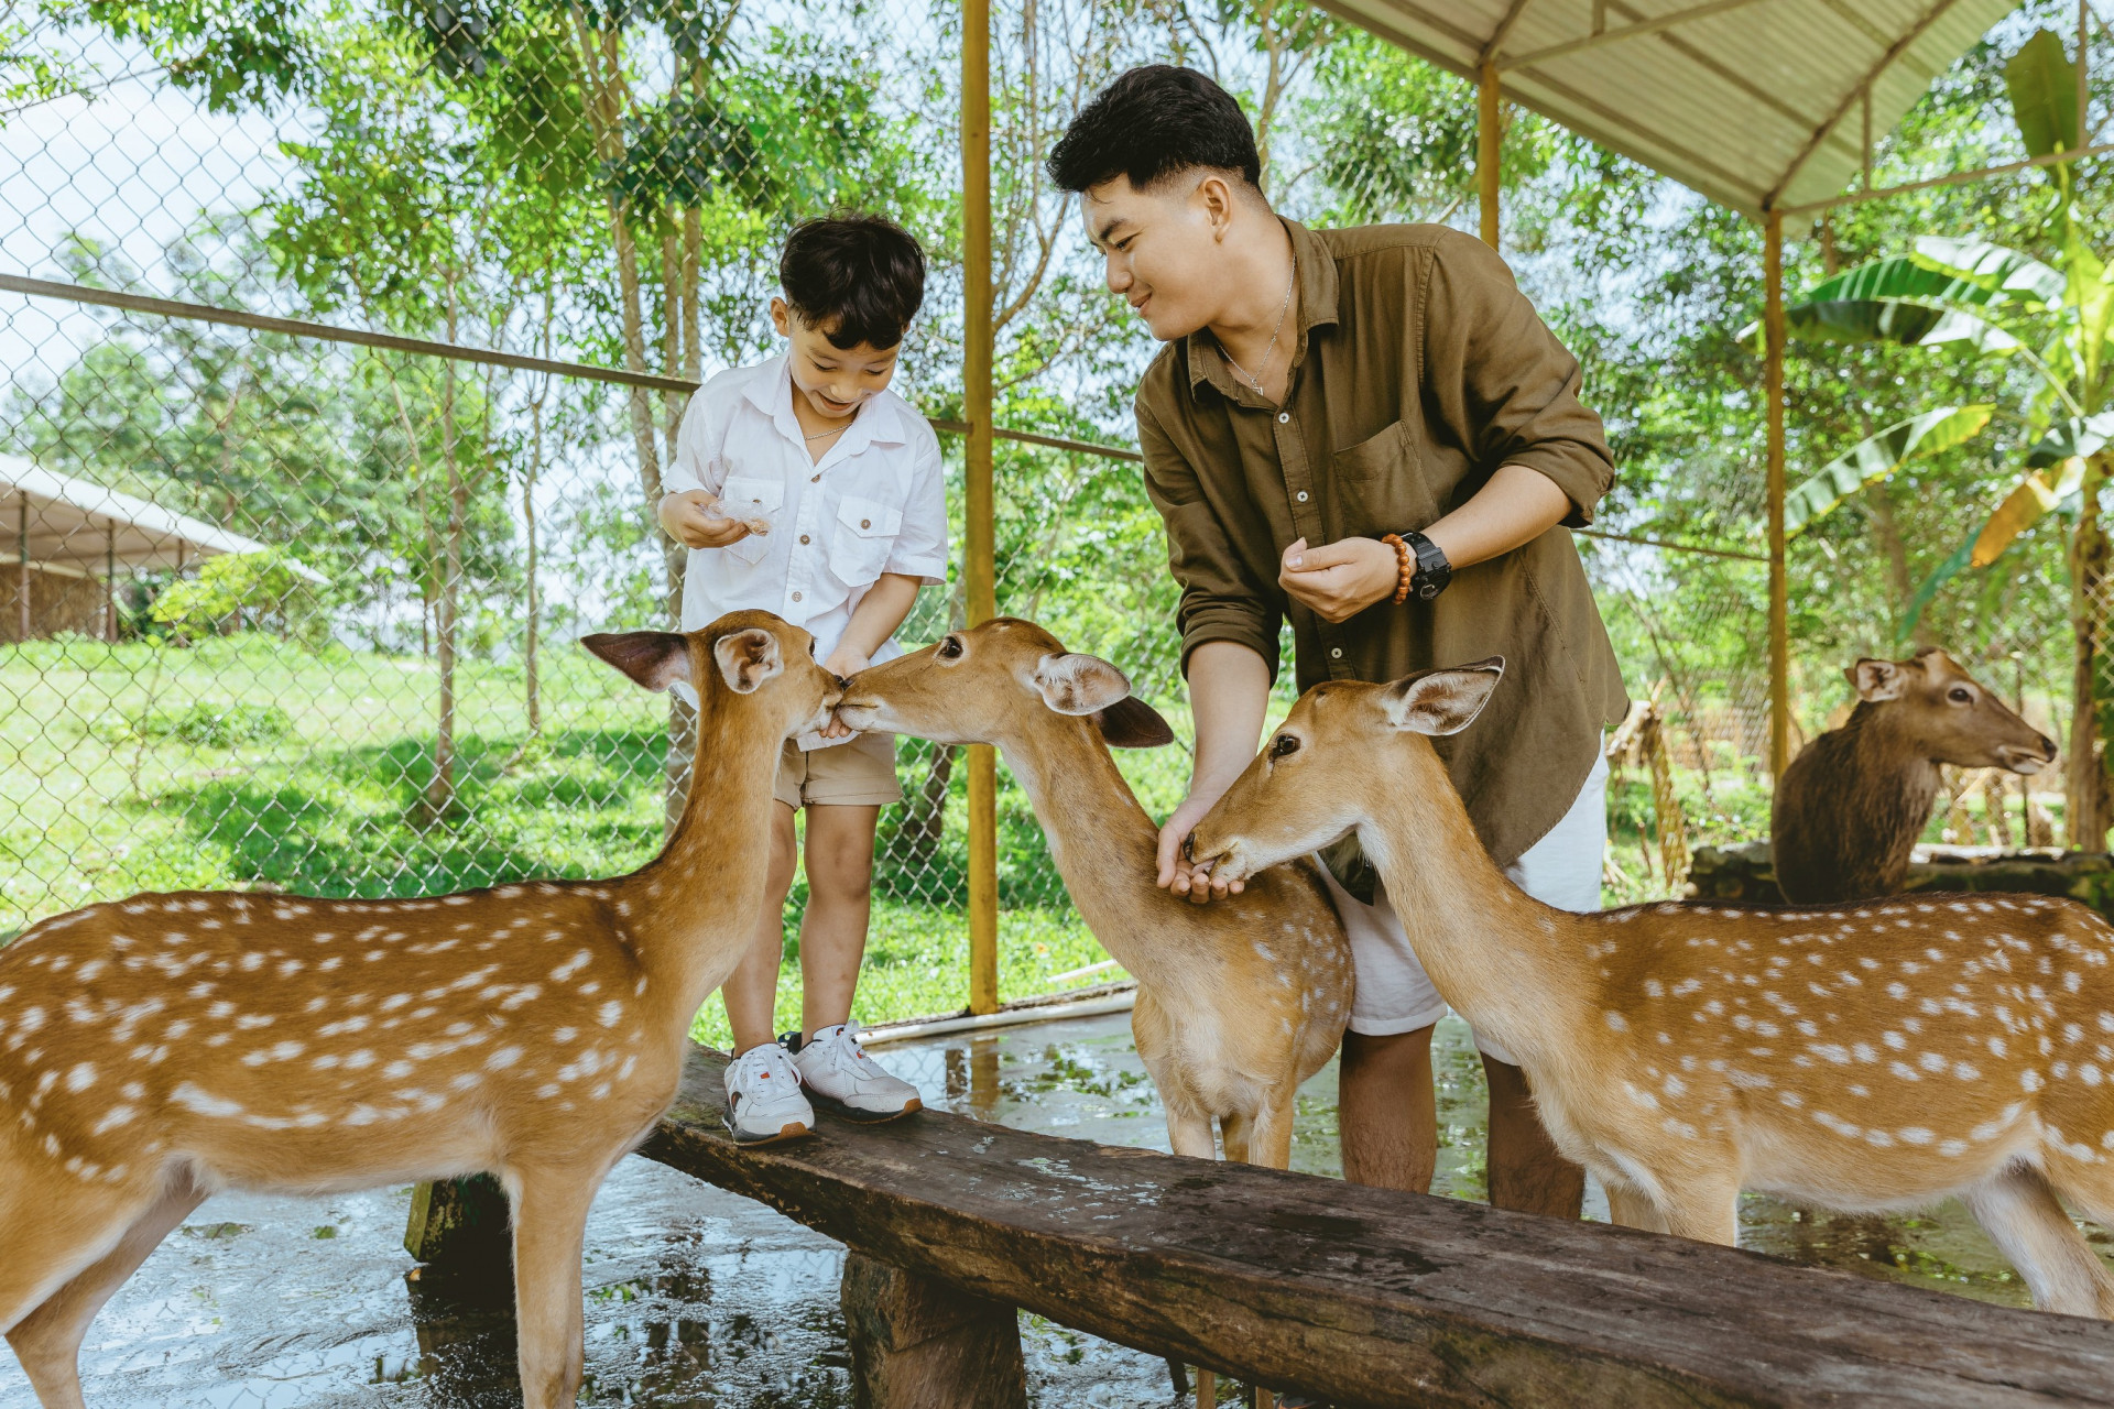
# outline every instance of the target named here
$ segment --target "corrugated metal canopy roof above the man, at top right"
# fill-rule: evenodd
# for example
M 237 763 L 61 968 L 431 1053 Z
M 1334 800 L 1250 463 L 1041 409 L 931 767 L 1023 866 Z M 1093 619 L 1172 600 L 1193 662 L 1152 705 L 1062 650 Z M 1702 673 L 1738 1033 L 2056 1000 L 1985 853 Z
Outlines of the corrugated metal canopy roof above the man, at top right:
M 1702 194 L 1824 201 L 2017 0 L 1321 0 Z M 1594 11 L 1602 32 L 1594 32 Z M 1586 42 L 1586 44 L 1581 44 Z

